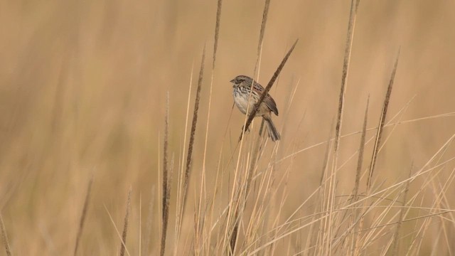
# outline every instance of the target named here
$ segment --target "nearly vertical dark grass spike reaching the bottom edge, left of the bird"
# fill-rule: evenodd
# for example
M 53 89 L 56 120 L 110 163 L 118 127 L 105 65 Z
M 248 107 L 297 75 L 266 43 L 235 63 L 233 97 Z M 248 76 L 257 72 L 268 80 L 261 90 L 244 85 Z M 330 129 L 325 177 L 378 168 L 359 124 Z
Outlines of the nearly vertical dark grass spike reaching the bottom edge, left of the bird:
M 166 117 L 164 118 L 164 149 L 163 149 L 163 225 L 161 226 L 161 249 L 160 255 L 164 255 L 166 248 L 166 233 L 169 217 L 169 198 L 171 190 L 168 188 L 168 134 L 169 134 L 169 92 L 166 97 Z

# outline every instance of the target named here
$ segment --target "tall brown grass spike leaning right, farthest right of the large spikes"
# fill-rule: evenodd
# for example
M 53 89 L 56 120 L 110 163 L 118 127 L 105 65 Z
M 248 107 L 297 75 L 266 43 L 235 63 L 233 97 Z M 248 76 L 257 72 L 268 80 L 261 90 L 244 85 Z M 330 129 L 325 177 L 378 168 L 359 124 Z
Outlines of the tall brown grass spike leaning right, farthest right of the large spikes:
M 395 73 L 397 72 L 399 58 L 400 50 L 398 50 L 397 58 L 395 59 L 395 65 L 393 66 L 392 75 L 390 75 L 389 86 L 387 87 L 387 93 L 385 94 L 384 105 L 382 105 L 381 118 L 378 125 L 378 133 L 376 134 L 375 146 L 373 146 L 373 156 L 371 157 L 370 171 L 368 173 L 367 191 L 369 191 L 371 188 L 371 179 L 373 178 L 373 171 L 375 170 L 376 159 L 378 158 L 382 131 L 384 130 L 385 117 L 387 115 L 387 109 L 389 107 L 390 95 L 392 95 L 393 81 L 395 80 Z

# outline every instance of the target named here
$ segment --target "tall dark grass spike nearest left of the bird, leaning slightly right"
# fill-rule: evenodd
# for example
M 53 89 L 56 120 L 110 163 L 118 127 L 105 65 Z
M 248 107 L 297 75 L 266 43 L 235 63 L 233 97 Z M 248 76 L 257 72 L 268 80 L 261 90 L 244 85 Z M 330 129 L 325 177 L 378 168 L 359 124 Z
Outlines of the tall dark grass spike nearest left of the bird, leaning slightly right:
M 196 100 L 194 102 L 193 111 L 193 122 L 191 124 L 190 142 L 188 143 L 188 156 L 186 157 L 185 177 L 183 179 L 183 201 L 181 202 L 181 215 L 185 211 L 186 197 L 188 196 L 188 183 L 190 179 L 191 171 L 191 159 L 193 156 L 194 137 L 196 134 L 196 124 L 198 123 L 198 110 L 200 102 L 200 88 L 202 87 L 202 79 L 204 74 L 204 59 L 205 59 L 205 46 L 202 54 L 202 60 L 200 62 L 199 78 L 198 78 L 198 89 L 196 90 Z

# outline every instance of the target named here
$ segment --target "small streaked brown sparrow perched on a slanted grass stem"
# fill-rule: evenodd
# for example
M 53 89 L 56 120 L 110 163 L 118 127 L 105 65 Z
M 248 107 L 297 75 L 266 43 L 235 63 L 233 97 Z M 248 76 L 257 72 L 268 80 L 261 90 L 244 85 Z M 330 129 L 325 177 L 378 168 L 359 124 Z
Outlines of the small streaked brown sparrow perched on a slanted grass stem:
M 232 87 L 234 89 L 232 91 L 232 96 L 234 97 L 235 105 L 237 105 L 237 108 L 243 114 L 247 113 L 247 109 L 249 110 L 248 114 L 251 114 L 255 108 L 255 104 L 259 101 L 262 92 L 264 92 L 264 87 L 246 75 L 237 75 L 237 77 L 230 80 L 230 82 L 232 82 Z M 250 107 L 248 107 L 248 103 L 250 103 Z M 273 142 L 276 142 L 281 138 L 281 136 L 277 131 L 277 127 L 275 127 L 272 122 L 271 112 L 274 112 L 274 114 L 278 116 L 277 103 L 275 103 L 272 96 L 267 93 L 264 100 L 261 102 L 261 105 L 259 105 L 255 117 L 262 117 L 264 119 L 267 124 L 269 137 L 272 138 Z

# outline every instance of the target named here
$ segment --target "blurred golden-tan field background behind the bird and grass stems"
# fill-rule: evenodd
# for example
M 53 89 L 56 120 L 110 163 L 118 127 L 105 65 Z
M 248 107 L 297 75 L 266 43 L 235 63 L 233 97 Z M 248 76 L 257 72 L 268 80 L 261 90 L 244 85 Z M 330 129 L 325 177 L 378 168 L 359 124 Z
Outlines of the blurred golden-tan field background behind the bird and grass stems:
M 169 149 L 177 168 L 186 147 L 188 93 L 192 112 L 204 46 L 192 182 L 200 178 L 207 122 L 208 180 L 215 177 L 220 154 L 228 161 L 244 121 L 237 109 L 232 110 L 229 81 L 236 75 L 253 75 L 264 1 L 223 2 L 208 119 L 216 8 L 216 1 L 1 1 L 0 209 L 16 255 L 73 252 L 90 176 L 94 183 L 80 252 L 117 252 L 119 240 L 107 211 L 121 227 L 132 187 L 128 243 L 130 252 L 138 254 L 139 219 L 145 221 L 151 196 L 160 188 L 166 92 Z M 331 132 L 349 9 L 350 1 L 271 2 L 259 73 L 262 85 L 299 38 L 271 90 L 280 111 L 272 118 L 284 131 L 279 142 L 282 157 L 326 141 Z M 454 9 L 453 1 L 361 1 L 343 134 L 360 131 L 368 96 L 368 127 L 378 125 L 399 49 L 387 120 L 408 103 L 394 122 L 454 112 Z M 452 116 L 399 124 L 393 132 L 392 127 L 385 129 L 390 138 L 378 159 L 375 180 L 390 186 L 405 179 L 412 162 L 417 169 L 427 163 L 454 134 L 454 126 Z M 359 139 L 355 134 L 341 140 L 341 163 L 355 153 Z M 369 156 L 372 147 L 368 144 L 365 154 Z M 291 168 L 287 186 L 294 193 L 287 198 L 284 216 L 319 185 L 324 151 L 324 145 L 301 151 L 292 164 L 288 158 L 277 171 L 279 176 Z M 454 153 L 450 147 L 442 158 Z M 355 164 L 356 157 L 341 169 L 340 194 L 352 189 Z M 454 164 L 447 166 L 450 171 Z M 448 176 L 441 171 L 437 180 Z M 446 193 L 454 199 L 454 188 Z M 431 203 L 432 193 L 422 200 Z M 154 218 L 159 219 L 157 210 Z M 429 239 L 432 232 L 438 230 L 429 230 Z M 453 240 L 453 227 L 449 233 Z M 425 245 L 434 246 L 431 240 Z

